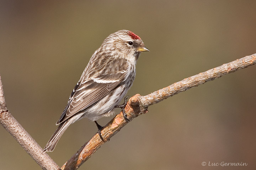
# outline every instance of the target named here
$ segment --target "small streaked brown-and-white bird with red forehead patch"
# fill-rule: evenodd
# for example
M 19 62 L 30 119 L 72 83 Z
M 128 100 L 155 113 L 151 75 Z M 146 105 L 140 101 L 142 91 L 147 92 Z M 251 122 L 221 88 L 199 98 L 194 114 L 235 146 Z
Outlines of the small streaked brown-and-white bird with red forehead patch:
M 59 125 L 43 152 L 52 152 L 69 125 L 87 118 L 95 121 L 98 134 L 101 129 L 96 120 L 114 114 L 114 108 L 122 108 L 124 118 L 125 103 L 117 105 L 133 84 L 136 73 L 136 62 L 142 51 L 149 51 L 142 39 L 128 30 L 119 30 L 110 34 L 98 48 L 87 64 L 80 80 L 68 100 Z

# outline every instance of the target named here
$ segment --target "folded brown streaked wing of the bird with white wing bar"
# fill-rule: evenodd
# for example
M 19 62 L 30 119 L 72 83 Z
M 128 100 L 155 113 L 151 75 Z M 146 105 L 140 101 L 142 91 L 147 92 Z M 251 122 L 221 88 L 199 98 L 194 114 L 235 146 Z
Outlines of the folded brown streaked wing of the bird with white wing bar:
M 128 76 L 129 64 L 124 59 L 99 60 L 97 67 L 93 65 L 88 64 L 85 68 L 56 125 L 106 96 Z M 94 72 L 89 72 L 88 70 L 94 70 Z

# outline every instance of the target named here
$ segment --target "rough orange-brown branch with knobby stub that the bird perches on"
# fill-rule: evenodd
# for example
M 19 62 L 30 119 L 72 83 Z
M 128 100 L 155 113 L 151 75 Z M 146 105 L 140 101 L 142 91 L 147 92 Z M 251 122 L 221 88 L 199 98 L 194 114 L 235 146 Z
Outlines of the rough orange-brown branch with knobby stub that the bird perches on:
M 256 64 L 256 54 L 240 58 L 236 61 L 223 64 L 222 66 L 210 69 L 206 72 L 199 73 L 192 77 L 183 79 L 177 83 L 167 86 L 163 89 L 155 91 L 146 96 L 139 94 L 131 97 L 127 103 L 125 111 L 129 120 L 134 119 L 138 115 L 147 112 L 147 108 L 155 103 L 158 103 L 170 96 L 176 95 L 179 92 L 188 90 L 192 87 L 204 84 L 207 81 L 220 78 L 225 74 L 236 72 L 239 69 L 246 68 Z M 123 114 L 116 115 L 101 131 L 101 135 L 105 141 L 109 141 L 123 126 L 127 124 L 123 118 Z M 82 163 L 91 157 L 105 142 L 103 142 L 98 134 L 95 134 L 91 140 L 82 146 L 63 166 L 62 170 L 78 169 Z

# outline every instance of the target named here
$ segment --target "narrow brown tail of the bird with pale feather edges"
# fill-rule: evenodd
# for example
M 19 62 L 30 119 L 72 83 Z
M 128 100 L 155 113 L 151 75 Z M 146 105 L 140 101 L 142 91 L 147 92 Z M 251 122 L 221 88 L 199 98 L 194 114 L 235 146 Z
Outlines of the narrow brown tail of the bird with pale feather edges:
M 46 147 L 43 149 L 44 152 L 52 152 L 58 143 L 60 137 L 63 135 L 65 130 L 69 127 L 71 121 L 65 121 L 64 123 L 60 124 L 57 130 L 54 132 L 50 140 L 47 142 Z

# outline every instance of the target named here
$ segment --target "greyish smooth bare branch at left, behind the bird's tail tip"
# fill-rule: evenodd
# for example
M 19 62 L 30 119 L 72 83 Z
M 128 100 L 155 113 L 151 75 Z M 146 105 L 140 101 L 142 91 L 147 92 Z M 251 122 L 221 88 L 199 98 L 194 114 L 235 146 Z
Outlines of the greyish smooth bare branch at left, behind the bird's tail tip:
M 7 110 L 2 80 L 0 75 L 0 124 L 15 138 L 15 140 L 25 149 L 25 151 L 41 166 L 44 170 L 57 170 L 59 166 L 43 153 L 43 149 L 38 143 L 22 128 L 18 121 Z

